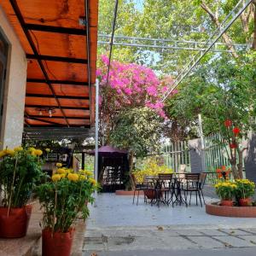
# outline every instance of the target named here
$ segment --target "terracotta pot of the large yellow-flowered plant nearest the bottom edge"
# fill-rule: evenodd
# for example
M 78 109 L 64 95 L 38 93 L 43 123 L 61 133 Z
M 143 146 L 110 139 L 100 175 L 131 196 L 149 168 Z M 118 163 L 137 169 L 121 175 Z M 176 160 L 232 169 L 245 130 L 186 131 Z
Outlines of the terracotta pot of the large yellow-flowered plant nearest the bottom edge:
M 49 228 L 42 231 L 42 256 L 69 256 L 73 242 L 74 229 L 67 233 L 54 232 Z

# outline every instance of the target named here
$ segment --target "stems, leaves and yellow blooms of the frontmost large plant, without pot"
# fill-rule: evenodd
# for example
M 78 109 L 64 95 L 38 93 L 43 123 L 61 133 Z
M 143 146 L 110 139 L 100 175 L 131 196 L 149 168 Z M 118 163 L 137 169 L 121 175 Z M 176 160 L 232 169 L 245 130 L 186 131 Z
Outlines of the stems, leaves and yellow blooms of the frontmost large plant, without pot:
M 38 186 L 36 195 L 43 208 L 43 227 L 65 233 L 79 212 L 84 220 L 89 216 L 87 203 L 93 202 L 92 193 L 98 185 L 91 172 L 74 173 L 72 169 L 59 167 L 51 181 Z

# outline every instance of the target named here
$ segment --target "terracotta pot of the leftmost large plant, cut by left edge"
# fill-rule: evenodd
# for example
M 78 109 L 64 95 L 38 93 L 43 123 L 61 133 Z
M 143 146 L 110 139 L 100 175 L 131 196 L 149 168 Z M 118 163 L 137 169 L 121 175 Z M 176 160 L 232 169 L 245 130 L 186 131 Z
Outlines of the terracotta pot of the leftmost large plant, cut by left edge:
M 19 238 L 26 236 L 26 230 L 32 212 L 32 206 L 22 208 L 0 207 L 0 237 Z

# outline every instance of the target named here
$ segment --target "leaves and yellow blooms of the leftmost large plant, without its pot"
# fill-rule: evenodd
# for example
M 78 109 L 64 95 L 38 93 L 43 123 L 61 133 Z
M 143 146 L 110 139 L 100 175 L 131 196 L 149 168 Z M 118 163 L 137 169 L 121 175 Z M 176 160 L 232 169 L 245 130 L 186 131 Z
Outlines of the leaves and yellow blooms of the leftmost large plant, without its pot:
M 43 177 L 42 150 L 21 147 L 6 148 L 0 152 L 1 207 L 24 207 L 32 195 L 32 189 Z

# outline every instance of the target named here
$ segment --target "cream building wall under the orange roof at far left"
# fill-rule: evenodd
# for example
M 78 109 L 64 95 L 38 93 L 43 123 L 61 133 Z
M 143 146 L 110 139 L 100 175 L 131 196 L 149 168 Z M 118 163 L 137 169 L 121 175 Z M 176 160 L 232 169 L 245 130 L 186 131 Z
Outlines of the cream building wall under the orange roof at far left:
M 0 148 L 14 148 L 22 139 L 26 96 L 26 54 L 0 6 L 0 30 L 9 41 Z

